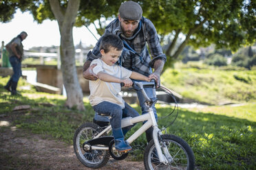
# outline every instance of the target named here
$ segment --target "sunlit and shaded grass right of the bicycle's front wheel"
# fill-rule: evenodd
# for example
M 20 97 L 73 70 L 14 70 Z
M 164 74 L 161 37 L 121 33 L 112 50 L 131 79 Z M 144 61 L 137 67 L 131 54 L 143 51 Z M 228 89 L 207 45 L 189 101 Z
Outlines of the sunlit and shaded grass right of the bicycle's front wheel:
M 160 125 L 168 123 L 160 120 Z M 255 169 L 255 130 L 256 104 L 182 109 L 167 129 L 191 145 L 200 169 Z

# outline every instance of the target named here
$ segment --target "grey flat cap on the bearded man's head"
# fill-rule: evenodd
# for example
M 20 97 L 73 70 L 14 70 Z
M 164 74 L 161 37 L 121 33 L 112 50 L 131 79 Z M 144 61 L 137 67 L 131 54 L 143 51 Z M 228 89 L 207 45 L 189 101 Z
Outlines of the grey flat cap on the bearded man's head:
M 120 17 L 126 20 L 139 20 L 142 16 L 141 6 L 134 1 L 125 1 L 118 10 Z

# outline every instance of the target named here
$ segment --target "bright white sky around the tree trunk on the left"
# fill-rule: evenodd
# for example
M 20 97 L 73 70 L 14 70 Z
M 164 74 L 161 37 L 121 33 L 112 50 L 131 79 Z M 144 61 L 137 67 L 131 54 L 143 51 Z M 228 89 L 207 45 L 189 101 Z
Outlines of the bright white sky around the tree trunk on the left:
M 94 33 L 96 38 L 100 38 L 96 34 L 96 29 L 93 25 L 90 25 L 89 29 Z M 28 37 L 22 42 L 24 49 L 30 49 L 31 47 L 50 47 L 52 45 L 59 46 L 61 42 L 57 21 L 45 20 L 43 23 L 38 24 L 34 21 L 32 14 L 29 12 L 22 13 L 20 10 L 17 10 L 14 18 L 10 22 L 0 22 L 0 41 L 4 41 L 6 45 L 22 31 L 28 33 Z M 74 45 L 82 41 L 86 46 L 94 46 L 97 42 L 96 38 L 92 36 L 86 27 L 74 27 L 73 38 Z

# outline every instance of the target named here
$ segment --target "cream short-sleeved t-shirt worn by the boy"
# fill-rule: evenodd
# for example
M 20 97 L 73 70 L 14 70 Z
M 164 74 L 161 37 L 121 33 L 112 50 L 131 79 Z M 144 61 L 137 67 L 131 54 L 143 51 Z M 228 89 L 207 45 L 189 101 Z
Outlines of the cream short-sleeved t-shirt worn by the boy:
M 109 66 L 103 62 L 103 60 L 100 60 L 100 58 L 93 60 L 91 65 L 92 64 L 97 64 L 92 70 L 95 74 L 98 74 L 100 71 L 104 71 L 109 75 L 113 75 L 121 79 L 127 79 L 131 76 L 131 71 L 128 69 L 118 66 L 118 64 Z M 89 80 L 89 90 L 89 102 L 92 106 L 95 106 L 102 101 L 109 101 L 125 108 L 125 101 L 119 95 L 121 91 L 120 83 L 103 82 L 100 79 L 96 81 Z

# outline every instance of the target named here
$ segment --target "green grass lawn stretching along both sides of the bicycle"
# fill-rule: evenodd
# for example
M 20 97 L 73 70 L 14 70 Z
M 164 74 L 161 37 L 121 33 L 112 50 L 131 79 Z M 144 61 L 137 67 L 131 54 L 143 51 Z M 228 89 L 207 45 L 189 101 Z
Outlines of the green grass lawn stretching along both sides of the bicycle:
M 252 80 L 251 81 L 255 81 Z M 51 136 L 72 144 L 76 128 L 85 121 L 92 121 L 94 111 L 84 99 L 86 111 L 63 107 L 65 98 L 30 90 L 24 80 L 19 81 L 18 90 L 22 96 L 11 96 L 3 86 L 8 77 L 0 77 L 1 121 L 10 121 L 16 126 L 35 134 Z M 48 105 L 46 105 L 48 104 Z M 50 106 L 49 104 L 52 104 Z M 30 105 L 30 110 L 12 112 L 15 106 Z M 140 110 L 137 105 L 132 105 Z M 171 106 L 157 104 L 158 116 L 169 114 Z M 175 114 L 159 120 L 160 127 L 169 125 Z M 141 124 L 128 132 L 134 132 Z M 9 127 L 10 127 L 9 126 Z M 7 127 L 0 127 L 7 128 Z M 243 106 L 209 106 L 206 108 L 180 109 L 173 125 L 167 132 L 183 138 L 192 147 L 198 169 L 255 169 L 256 167 L 256 104 Z M 145 134 L 132 143 L 131 160 L 142 160 L 146 146 Z

